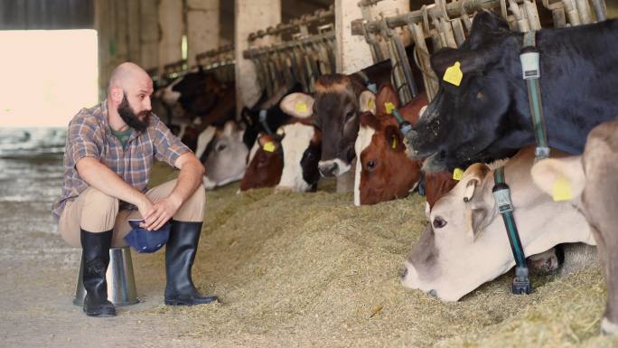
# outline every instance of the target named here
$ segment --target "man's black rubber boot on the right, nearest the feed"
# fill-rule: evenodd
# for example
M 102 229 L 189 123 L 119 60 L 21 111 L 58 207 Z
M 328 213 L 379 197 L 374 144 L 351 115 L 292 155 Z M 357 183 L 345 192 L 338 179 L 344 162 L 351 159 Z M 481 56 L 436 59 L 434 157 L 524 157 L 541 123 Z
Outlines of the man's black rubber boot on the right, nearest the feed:
M 200 233 L 201 222 L 172 221 L 165 244 L 165 305 L 194 306 L 217 301 L 217 296 L 201 296 L 193 285 L 191 268 Z

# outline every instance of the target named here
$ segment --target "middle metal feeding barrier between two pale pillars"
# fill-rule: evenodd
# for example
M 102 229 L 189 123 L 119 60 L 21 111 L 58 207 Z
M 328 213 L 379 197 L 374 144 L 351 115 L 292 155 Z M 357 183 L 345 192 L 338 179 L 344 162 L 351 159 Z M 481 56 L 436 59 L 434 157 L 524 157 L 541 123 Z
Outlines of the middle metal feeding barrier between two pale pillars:
M 318 76 L 335 72 L 333 6 L 251 33 L 248 42 L 243 57 L 253 61 L 258 84 L 267 96 L 296 83 L 313 92 Z

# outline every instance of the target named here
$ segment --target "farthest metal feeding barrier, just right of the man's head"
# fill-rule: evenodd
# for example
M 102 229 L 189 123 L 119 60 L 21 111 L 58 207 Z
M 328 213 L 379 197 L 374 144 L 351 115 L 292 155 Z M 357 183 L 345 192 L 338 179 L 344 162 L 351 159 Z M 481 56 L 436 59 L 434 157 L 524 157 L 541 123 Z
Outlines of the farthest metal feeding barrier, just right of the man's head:
M 220 82 L 228 83 L 235 80 L 233 45 L 198 53 L 195 55 L 195 61 L 197 64 L 192 67 L 189 67 L 187 60 L 165 64 L 161 74 L 158 68 L 149 69 L 146 72 L 155 82 L 163 82 L 163 85 L 192 71 L 198 71 L 199 68 L 204 72 L 213 73 Z

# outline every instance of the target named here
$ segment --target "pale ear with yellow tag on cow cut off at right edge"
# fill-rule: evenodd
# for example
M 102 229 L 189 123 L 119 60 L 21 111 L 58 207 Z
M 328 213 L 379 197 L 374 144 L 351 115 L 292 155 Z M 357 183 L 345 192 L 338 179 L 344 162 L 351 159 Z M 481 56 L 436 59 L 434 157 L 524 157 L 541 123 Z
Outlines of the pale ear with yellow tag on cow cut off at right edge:
M 585 173 L 579 155 L 539 161 L 530 174 L 538 188 L 554 201 L 571 201 L 584 191 Z

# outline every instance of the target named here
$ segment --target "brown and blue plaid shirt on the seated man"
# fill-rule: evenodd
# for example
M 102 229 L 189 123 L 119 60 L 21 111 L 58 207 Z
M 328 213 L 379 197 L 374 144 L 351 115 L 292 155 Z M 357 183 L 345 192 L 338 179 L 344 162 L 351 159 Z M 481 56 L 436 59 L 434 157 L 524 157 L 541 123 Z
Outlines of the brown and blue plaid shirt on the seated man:
M 69 123 L 64 147 L 62 195 L 58 202 L 53 203 L 52 212 L 60 218 L 66 202 L 89 188 L 75 166 L 83 157 L 98 159 L 126 183 L 144 193 L 155 158 L 173 166 L 180 155 L 189 151 L 155 115 L 150 117 L 144 133 L 135 130 L 131 133 L 123 149 L 109 128 L 107 99 L 93 108 L 82 108 Z M 120 202 L 120 209 L 130 208 L 131 204 Z

